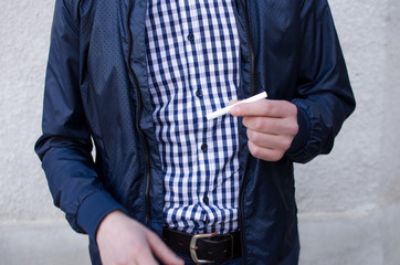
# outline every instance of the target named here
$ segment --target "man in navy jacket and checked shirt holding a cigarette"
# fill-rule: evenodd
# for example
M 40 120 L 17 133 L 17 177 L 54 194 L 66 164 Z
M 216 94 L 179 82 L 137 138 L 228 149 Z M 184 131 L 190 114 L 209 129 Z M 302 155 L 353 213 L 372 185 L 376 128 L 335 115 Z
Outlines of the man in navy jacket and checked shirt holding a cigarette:
M 326 0 L 57 0 L 35 150 L 93 264 L 297 264 L 293 162 L 354 107 Z

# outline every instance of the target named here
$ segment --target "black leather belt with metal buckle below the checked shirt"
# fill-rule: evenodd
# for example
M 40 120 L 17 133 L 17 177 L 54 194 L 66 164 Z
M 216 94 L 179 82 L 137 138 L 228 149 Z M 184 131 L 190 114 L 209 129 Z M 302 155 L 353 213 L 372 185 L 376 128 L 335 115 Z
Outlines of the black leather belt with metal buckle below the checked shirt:
M 190 255 L 194 263 L 221 263 L 241 256 L 240 232 L 187 234 L 164 229 L 162 240 L 175 252 Z

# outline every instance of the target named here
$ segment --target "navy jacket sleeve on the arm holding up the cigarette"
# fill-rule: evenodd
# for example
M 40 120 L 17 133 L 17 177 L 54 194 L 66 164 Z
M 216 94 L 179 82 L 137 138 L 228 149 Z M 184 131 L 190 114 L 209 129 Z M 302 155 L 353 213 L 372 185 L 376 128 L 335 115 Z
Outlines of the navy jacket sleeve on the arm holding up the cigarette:
M 327 1 L 302 1 L 301 23 L 302 57 L 293 99 L 299 130 L 286 157 L 307 162 L 331 150 L 356 104 Z

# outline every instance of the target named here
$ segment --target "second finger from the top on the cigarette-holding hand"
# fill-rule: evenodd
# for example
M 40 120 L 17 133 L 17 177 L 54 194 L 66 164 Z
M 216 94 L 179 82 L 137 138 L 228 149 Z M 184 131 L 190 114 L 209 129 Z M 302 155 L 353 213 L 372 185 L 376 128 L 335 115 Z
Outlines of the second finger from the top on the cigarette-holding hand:
M 290 118 L 271 118 L 249 116 L 243 118 L 243 125 L 248 129 L 270 134 L 270 135 L 291 135 L 298 131 L 298 124 Z

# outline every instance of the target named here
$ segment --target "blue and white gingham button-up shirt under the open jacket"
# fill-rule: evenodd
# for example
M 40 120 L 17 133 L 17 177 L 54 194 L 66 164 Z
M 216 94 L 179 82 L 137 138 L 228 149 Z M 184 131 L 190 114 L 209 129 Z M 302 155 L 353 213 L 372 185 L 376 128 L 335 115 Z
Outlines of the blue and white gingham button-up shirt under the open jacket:
M 149 88 L 165 174 L 165 221 L 187 233 L 238 229 L 238 119 L 206 119 L 238 98 L 233 4 L 148 1 Z

